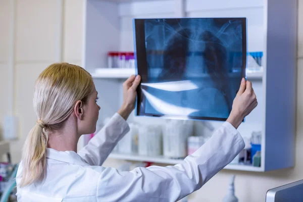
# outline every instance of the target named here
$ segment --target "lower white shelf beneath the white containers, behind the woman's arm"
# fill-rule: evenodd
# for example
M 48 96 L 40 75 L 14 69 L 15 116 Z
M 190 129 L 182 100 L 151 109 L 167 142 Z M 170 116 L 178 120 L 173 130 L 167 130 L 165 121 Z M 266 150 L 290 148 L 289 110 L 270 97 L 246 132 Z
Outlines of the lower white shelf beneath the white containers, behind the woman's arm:
M 171 159 L 164 156 L 155 156 L 155 157 L 147 157 L 147 156 L 139 156 L 136 154 L 118 154 L 112 153 L 109 158 L 126 160 L 126 161 L 140 161 L 140 162 L 153 162 L 159 164 L 179 164 L 182 163 L 183 160 L 180 159 Z M 254 171 L 254 172 L 263 172 L 261 167 L 254 166 L 245 166 L 245 165 L 237 165 L 237 164 L 229 164 L 224 169 L 226 170 L 241 170 L 241 171 Z

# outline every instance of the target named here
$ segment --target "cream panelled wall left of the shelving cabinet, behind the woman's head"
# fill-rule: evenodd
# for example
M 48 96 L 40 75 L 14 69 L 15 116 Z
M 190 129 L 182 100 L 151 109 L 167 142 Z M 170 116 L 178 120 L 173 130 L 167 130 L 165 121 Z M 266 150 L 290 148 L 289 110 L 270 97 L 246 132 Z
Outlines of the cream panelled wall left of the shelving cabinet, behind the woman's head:
M 15 0 L 14 0 L 15 1 Z M 19 139 L 11 142 L 12 160 L 21 158 L 21 147 L 36 122 L 32 107 L 33 87 L 38 75 L 48 65 L 60 61 L 81 64 L 81 0 L 0 1 L 0 127 L 9 113 L 9 32 L 10 12 L 15 10 L 14 112 L 19 119 Z M 58 13 L 64 8 L 62 18 Z M 63 29 L 60 29 L 63 23 Z M 60 42 L 62 36 L 63 43 Z M 60 46 L 63 47 L 60 50 Z

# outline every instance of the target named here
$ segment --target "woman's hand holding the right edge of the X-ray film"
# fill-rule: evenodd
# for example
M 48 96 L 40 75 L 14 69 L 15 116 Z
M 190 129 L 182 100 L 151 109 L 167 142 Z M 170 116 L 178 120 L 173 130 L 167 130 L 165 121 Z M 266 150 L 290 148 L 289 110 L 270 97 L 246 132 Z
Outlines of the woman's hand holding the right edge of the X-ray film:
M 246 117 L 258 105 L 257 97 L 250 81 L 242 78 L 240 89 L 233 100 L 232 110 L 227 119 L 235 128 L 238 128 Z

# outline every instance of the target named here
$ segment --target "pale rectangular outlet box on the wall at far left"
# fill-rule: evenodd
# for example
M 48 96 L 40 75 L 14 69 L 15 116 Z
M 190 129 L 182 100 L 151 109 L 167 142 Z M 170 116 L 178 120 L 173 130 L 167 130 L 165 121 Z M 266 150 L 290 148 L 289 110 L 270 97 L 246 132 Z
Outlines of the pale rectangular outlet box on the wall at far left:
M 14 140 L 18 138 L 18 118 L 6 116 L 4 118 L 4 139 Z

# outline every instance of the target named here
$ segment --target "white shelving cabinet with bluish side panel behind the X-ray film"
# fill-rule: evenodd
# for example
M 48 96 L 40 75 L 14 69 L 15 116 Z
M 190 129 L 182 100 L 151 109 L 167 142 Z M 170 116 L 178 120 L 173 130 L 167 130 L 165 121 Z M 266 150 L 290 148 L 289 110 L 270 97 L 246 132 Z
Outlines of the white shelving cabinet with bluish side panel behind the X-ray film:
M 107 66 L 109 51 L 131 52 L 133 18 L 246 17 L 248 52 L 263 52 L 263 72 L 248 72 L 258 107 L 238 128 L 242 136 L 262 132 L 261 167 L 228 165 L 226 169 L 264 172 L 294 166 L 296 1 L 289 0 L 85 0 L 83 64 L 99 93 L 99 120 L 112 116 L 122 104 L 122 82 L 133 69 Z M 98 69 L 98 70 L 97 70 Z M 96 71 L 97 70 L 97 71 Z M 110 86 L 110 87 L 109 87 Z M 140 123 L 156 118 L 129 117 Z M 209 122 L 218 128 L 221 122 Z M 80 141 L 80 147 L 84 146 Z M 175 164 L 164 157 L 111 154 L 110 158 Z

